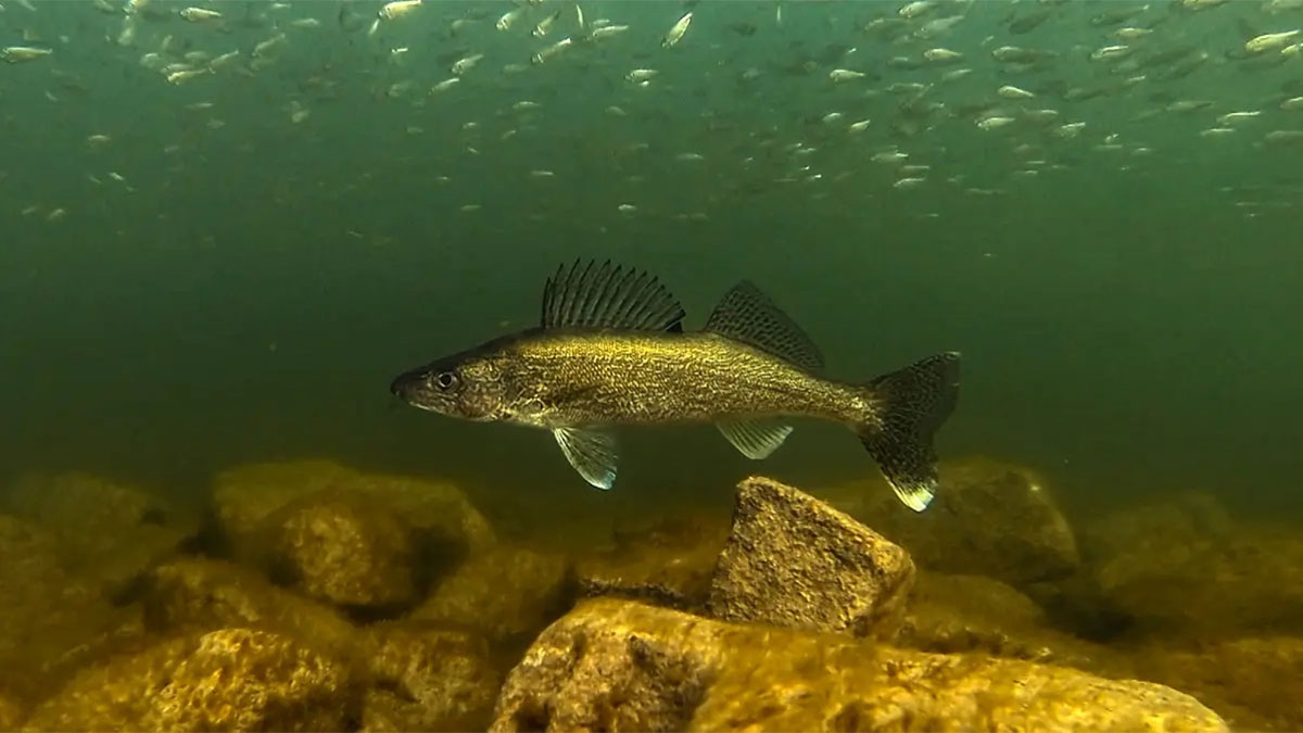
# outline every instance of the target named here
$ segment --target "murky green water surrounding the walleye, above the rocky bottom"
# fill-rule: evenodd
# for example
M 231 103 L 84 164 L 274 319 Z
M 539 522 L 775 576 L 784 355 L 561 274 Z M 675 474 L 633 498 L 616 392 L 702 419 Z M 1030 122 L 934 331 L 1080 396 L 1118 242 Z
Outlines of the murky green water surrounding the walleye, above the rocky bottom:
M 727 502 L 757 466 L 709 428 L 632 432 L 602 496 L 545 434 L 386 391 L 611 257 L 689 327 L 756 280 L 837 377 L 963 351 L 941 453 L 1068 505 L 1303 505 L 1303 55 L 1246 50 L 1295 3 L 545 1 L 506 30 L 504 1 L 3 4 L 0 42 L 36 50 L 0 64 L 8 473 L 198 493 L 328 455 L 523 522 Z M 807 425 L 764 470 L 874 471 Z

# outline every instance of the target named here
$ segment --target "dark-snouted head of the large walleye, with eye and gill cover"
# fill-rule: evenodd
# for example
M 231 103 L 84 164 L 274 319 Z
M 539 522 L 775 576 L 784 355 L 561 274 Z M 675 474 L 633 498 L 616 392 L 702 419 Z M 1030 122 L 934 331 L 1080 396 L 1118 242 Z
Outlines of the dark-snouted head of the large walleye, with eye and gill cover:
M 502 370 L 477 351 L 404 372 L 390 385 L 390 391 L 412 407 L 450 417 L 480 421 L 503 417 Z

